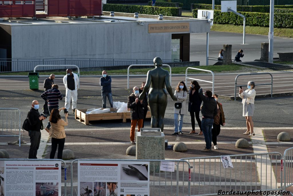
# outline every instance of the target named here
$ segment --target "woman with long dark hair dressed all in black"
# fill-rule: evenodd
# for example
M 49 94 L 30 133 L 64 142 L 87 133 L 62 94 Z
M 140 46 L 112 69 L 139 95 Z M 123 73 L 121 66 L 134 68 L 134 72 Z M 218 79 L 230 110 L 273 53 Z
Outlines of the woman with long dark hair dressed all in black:
M 198 133 L 198 135 L 202 135 L 201 120 L 200 120 L 200 105 L 202 103 L 202 99 L 198 96 L 199 89 L 200 89 L 200 85 L 198 84 L 197 81 L 193 80 L 190 84 L 189 102 L 188 102 L 188 111 L 190 112 L 191 126 L 192 126 L 192 131 L 190 131 L 189 133 L 195 134 L 195 119 L 196 119 L 197 124 L 200 128 L 200 132 Z

